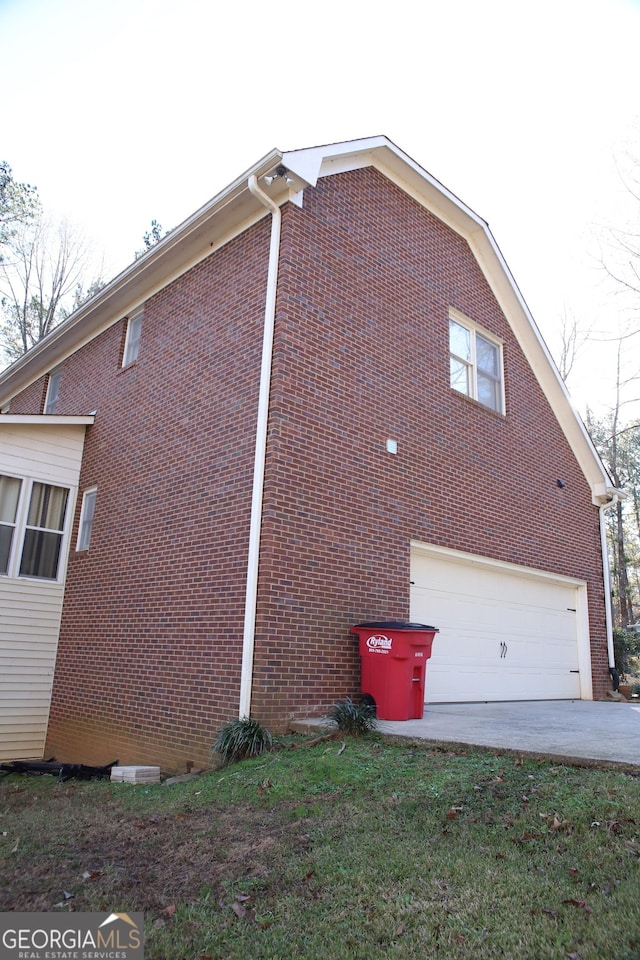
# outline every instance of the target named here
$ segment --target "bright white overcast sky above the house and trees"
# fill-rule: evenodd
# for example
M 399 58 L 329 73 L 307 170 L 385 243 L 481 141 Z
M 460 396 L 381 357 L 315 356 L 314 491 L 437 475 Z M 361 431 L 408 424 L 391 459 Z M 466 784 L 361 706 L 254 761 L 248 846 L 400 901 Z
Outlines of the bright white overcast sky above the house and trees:
M 489 222 L 554 349 L 565 312 L 628 319 L 597 261 L 640 209 L 639 49 L 640 0 L 0 0 L 0 159 L 112 275 L 272 147 L 385 134 Z M 595 340 L 579 373 L 607 399 Z

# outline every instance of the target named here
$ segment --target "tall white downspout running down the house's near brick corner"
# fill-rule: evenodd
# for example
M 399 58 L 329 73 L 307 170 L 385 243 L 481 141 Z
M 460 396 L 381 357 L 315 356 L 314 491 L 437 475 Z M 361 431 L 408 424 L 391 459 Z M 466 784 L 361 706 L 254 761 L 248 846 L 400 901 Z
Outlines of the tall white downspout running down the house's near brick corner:
M 253 651 L 255 646 L 256 605 L 258 597 L 258 564 L 260 562 L 260 534 L 262 530 L 264 465 L 267 454 L 267 422 L 269 418 L 269 394 L 271 392 L 271 362 L 273 358 L 273 331 L 276 318 L 276 289 L 278 285 L 278 258 L 280 252 L 280 227 L 282 214 L 258 186 L 254 174 L 249 177 L 251 193 L 271 211 L 271 244 L 267 272 L 267 296 L 264 309 L 262 334 L 262 366 L 260 369 L 260 393 L 256 422 L 256 445 L 253 466 L 253 492 L 251 496 L 251 521 L 249 526 L 249 553 L 247 558 L 247 587 L 244 606 L 244 633 L 242 640 L 242 672 L 240 674 L 239 716 L 251 714 L 251 686 L 253 682 Z

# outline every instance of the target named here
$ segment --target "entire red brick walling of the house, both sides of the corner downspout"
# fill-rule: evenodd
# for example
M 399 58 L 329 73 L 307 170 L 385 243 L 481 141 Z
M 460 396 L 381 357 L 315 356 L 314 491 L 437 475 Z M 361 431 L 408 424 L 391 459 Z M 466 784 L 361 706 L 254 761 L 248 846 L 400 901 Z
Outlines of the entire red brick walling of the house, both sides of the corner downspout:
M 131 368 L 124 321 L 64 363 L 59 411 L 97 409 L 98 499 L 80 554 L 76 512 L 48 755 L 184 769 L 237 716 L 269 229 L 147 302 Z M 505 417 L 450 389 L 450 307 L 504 338 Z M 271 402 L 254 716 L 280 730 L 357 692 L 349 626 L 409 615 L 411 539 L 586 579 L 603 690 L 585 480 L 465 241 L 375 171 L 284 210 Z

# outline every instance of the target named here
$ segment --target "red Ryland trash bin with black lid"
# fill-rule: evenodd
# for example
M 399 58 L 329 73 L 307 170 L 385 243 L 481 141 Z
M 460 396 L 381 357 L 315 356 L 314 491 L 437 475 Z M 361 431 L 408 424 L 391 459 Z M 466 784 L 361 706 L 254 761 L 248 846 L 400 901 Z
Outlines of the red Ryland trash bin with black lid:
M 381 720 L 420 720 L 424 711 L 427 660 L 437 627 L 385 620 L 358 623 L 360 690 L 372 697 Z

